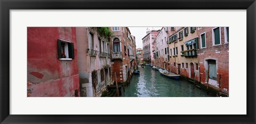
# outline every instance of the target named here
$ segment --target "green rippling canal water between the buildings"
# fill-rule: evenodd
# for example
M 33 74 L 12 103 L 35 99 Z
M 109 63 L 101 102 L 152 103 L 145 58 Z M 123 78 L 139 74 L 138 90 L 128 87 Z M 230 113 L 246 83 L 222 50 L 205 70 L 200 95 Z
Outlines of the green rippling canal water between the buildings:
M 212 97 L 185 79 L 174 80 L 161 75 L 150 66 L 139 67 L 140 75 L 133 75 L 130 85 L 122 89 L 122 97 Z

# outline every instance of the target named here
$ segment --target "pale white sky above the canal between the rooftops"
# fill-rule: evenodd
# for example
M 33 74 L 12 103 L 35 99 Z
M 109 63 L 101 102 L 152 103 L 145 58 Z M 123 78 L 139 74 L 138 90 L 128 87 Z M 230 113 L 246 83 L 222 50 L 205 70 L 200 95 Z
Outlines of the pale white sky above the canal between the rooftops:
M 147 27 L 147 26 L 144 26 L 144 27 L 128 27 L 130 32 L 131 32 L 131 35 L 132 36 L 135 36 L 135 41 L 136 41 L 136 49 L 138 48 L 141 48 L 142 49 L 142 38 L 146 36 L 146 31 L 147 31 L 147 28 L 149 30 L 160 30 L 162 29 L 162 27 Z

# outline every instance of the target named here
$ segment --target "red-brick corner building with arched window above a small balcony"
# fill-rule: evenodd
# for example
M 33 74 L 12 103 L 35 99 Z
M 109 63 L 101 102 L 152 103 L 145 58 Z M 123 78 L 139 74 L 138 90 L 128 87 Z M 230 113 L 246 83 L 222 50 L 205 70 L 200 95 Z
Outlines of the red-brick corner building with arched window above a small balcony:
M 135 54 L 133 55 L 133 38 L 131 32 L 127 27 L 110 27 L 113 35 L 110 38 L 110 53 L 111 53 L 111 67 L 113 68 L 113 81 L 118 83 L 125 83 L 132 74 L 132 61 L 135 61 Z M 135 42 L 135 37 L 134 37 Z M 116 73 L 116 77 L 115 77 Z

